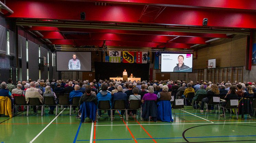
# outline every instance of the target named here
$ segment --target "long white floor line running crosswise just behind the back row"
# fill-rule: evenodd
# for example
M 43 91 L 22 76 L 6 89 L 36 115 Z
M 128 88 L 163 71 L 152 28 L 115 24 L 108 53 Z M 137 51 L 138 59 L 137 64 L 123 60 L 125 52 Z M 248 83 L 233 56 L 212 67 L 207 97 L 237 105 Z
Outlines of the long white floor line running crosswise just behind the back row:
M 127 124 L 127 125 L 94 125 L 94 126 L 140 126 L 140 125 L 191 125 L 191 124 L 244 124 L 256 122 L 230 122 L 230 123 L 177 123 L 177 124 Z

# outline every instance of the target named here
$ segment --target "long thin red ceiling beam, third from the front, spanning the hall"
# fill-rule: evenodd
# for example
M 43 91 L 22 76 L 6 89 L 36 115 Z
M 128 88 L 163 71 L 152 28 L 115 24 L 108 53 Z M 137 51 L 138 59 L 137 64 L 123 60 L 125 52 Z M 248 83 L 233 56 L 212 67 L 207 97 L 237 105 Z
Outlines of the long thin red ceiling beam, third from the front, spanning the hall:
M 205 37 L 205 38 L 230 38 L 226 34 L 213 33 L 189 33 L 170 31 L 138 31 L 138 30 L 117 30 L 117 29 L 83 29 L 83 28 L 62 28 L 62 27 L 40 27 L 33 26 L 27 30 L 36 31 L 61 31 L 61 32 L 84 32 L 84 33 L 116 33 L 116 34 L 138 34 L 138 35 L 162 35 L 181 37 Z

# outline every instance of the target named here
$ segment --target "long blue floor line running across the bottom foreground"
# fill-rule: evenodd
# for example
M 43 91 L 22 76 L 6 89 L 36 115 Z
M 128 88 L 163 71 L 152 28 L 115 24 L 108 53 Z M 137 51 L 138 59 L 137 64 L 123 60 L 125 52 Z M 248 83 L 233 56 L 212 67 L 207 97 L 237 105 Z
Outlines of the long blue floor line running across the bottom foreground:
M 225 135 L 225 136 L 208 136 L 208 137 L 186 137 L 186 138 L 223 138 L 223 137 L 255 137 L 256 135 Z M 136 140 L 152 140 L 152 139 L 182 139 L 183 137 L 172 138 L 136 138 Z M 133 140 L 133 139 L 96 139 L 94 141 L 106 141 L 106 140 Z M 77 141 L 89 141 L 89 140 L 77 140 Z

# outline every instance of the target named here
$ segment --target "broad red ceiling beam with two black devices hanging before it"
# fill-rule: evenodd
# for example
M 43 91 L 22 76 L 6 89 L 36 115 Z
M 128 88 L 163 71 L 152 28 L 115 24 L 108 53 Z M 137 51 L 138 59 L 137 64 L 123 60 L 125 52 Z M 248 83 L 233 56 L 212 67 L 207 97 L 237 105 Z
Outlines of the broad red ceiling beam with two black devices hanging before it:
M 143 5 L 106 5 L 74 1 L 18 1 L 9 0 L 7 5 L 14 11 L 12 18 L 81 20 L 80 13 L 86 13 L 86 21 L 139 23 Z M 244 4 L 247 5 L 245 1 Z M 72 6 L 70 6 L 72 5 Z M 22 8 L 22 9 L 21 9 Z M 154 24 L 202 26 L 202 19 L 208 18 L 210 27 L 256 28 L 256 14 L 242 11 L 204 10 L 167 7 Z M 150 19 L 141 19 L 150 23 Z M 152 23 L 152 22 L 151 22 Z

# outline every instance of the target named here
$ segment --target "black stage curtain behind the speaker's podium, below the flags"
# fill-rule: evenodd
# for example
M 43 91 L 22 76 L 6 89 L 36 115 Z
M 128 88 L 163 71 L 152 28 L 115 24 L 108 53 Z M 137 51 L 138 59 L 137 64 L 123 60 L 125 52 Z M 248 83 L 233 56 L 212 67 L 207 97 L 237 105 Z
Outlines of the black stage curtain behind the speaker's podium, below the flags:
M 149 80 L 149 63 L 111 63 L 111 62 L 94 62 L 96 80 L 109 80 L 109 77 L 122 77 L 124 69 L 126 69 L 128 77 L 131 73 L 135 77 L 140 77 L 141 81 Z

